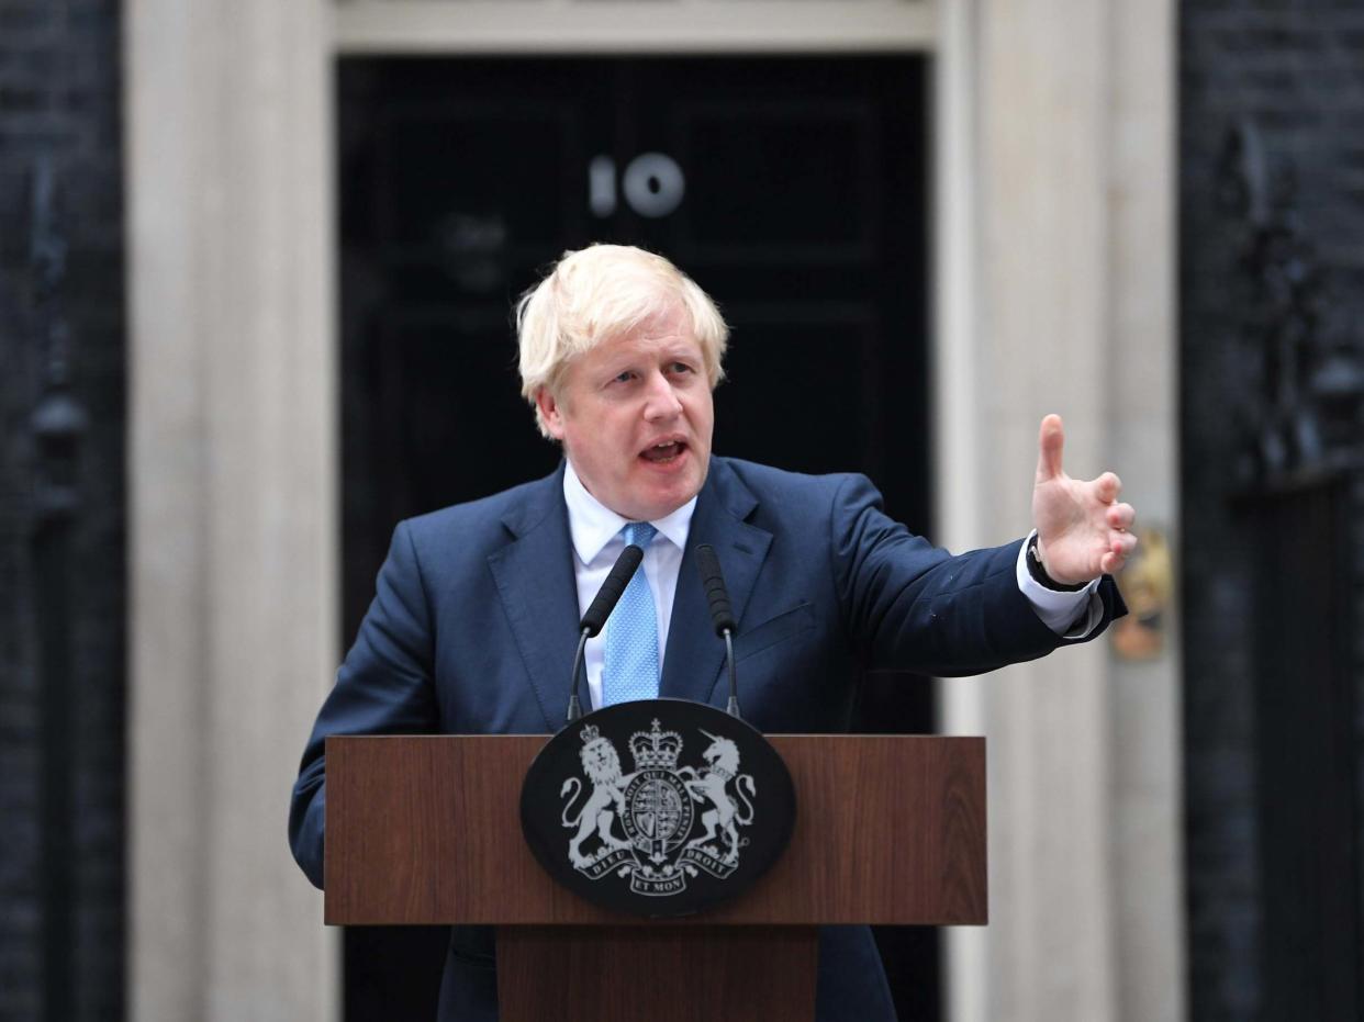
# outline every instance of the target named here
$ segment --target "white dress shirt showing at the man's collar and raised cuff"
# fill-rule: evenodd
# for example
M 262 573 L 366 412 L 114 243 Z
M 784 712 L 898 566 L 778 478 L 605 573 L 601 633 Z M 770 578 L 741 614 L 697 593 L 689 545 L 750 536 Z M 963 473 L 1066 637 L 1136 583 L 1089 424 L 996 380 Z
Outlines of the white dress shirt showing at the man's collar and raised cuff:
M 573 578 L 578 586 L 578 616 L 588 612 L 611 566 L 625 549 L 621 530 L 629 525 L 600 500 L 588 493 L 570 461 L 563 470 L 563 501 L 569 507 L 569 537 L 573 540 Z M 678 587 L 682 552 L 692 531 L 696 497 L 670 515 L 649 525 L 659 530 L 644 551 L 644 578 L 653 593 L 653 609 L 659 616 L 659 668 L 668 647 L 668 625 L 672 621 L 672 597 Z M 1030 537 L 1031 540 L 1031 537 Z M 1068 639 L 1088 635 L 1103 617 L 1103 602 L 1098 595 L 1098 579 L 1075 593 L 1058 593 L 1039 585 L 1027 570 L 1027 544 L 1019 549 L 1018 583 L 1033 604 L 1037 616 L 1048 628 Z M 697 583 L 700 585 L 700 583 Z M 1084 613 L 1082 613 L 1082 609 Z M 606 658 L 606 630 L 588 639 L 584 661 L 588 672 L 588 691 L 592 709 L 602 706 L 602 662 Z

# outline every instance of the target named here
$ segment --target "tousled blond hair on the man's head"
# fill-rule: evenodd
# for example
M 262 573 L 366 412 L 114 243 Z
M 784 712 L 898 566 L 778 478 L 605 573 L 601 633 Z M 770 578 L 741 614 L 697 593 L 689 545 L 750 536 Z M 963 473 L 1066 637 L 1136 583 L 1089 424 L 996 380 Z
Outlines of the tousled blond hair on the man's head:
M 653 252 L 630 245 L 589 245 L 565 252 L 543 281 L 516 304 L 521 349 L 521 397 L 535 406 L 542 387 L 558 394 L 569 364 L 604 341 L 629 334 L 677 304 L 692 320 L 711 387 L 724 376 L 720 361 L 730 338 L 720 311 L 690 277 Z

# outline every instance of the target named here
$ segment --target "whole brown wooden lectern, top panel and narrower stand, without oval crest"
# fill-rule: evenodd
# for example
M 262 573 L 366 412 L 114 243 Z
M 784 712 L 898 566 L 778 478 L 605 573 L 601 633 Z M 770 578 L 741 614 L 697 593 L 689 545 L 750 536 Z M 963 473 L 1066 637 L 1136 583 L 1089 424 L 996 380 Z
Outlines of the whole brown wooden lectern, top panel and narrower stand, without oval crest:
M 769 737 L 791 845 L 682 920 L 612 914 L 535 861 L 518 805 L 546 736 L 327 739 L 326 921 L 495 925 L 509 1022 L 813 1021 L 817 925 L 986 923 L 983 739 Z

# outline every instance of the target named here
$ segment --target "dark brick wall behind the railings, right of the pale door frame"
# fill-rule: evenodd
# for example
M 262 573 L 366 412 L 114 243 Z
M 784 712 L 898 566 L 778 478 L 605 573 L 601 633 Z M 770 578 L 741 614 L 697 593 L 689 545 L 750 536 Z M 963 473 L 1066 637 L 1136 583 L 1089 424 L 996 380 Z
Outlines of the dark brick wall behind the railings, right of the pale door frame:
M 1344 470 L 1345 485 L 1335 492 L 1350 507 L 1341 536 L 1277 536 L 1264 529 L 1266 501 L 1248 497 L 1247 478 L 1237 478 L 1245 467 L 1245 413 L 1254 420 L 1264 383 L 1263 367 L 1248 352 L 1244 318 L 1269 289 L 1239 264 L 1245 218 L 1224 202 L 1224 153 L 1228 132 L 1244 119 L 1275 174 L 1296 181 L 1288 222 L 1309 252 L 1305 264 L 1324 281 L 1324 315 L 1311 328 L 1357 358 L 1364 349 L 1364 4 L 1189 0 L 1180 22 L 1189 1007 L 1196 1019 L 1292 1018 L 1271 989 L 1282 962 L 1270 961 L 1273 891 L 1264 863 L 1274 860 L 1269 845 L 1288 848 L 1304 838 L 1266 829 L 1266 792 L 1275 778 L 1264 773 L 1263 743 L 1274 740 L 1281 721 L 1258 719 L 1264 690 L 1258 702 L 1255 687 L 1258 634 L 1279 627 L 1274 617 L 1290 609 L 1274 608 L 1256 551 L 1264 544 L 1338 544 L 1346 578 L 1342 630 L 1364 636 L 1364 485 L 1357 470 Z M 1357 448 L 1360 436 L 1356 418 L 1353 439 L 1338 447 Z M 1338 657 L 1356 695 L 1361 640 L 1348 639 Z M 1312 679 L 1271 681 L 1299 687 L 1303 699 L 1319 698 Z M 1357 814 L 1364 743 L 1357 717 L 1344 728 L 1353 741 Z M 1305 762 L 1303 754 L 1290 759 Z M 1359 837 L 1356 831 L 1353 839 Z M 1356 903 L 1356 923 L 1360 917 Z M 1299 953 L 1311 957 L 1312 948 Z M 1354 955 L 1357 976 L 1357 944 Z

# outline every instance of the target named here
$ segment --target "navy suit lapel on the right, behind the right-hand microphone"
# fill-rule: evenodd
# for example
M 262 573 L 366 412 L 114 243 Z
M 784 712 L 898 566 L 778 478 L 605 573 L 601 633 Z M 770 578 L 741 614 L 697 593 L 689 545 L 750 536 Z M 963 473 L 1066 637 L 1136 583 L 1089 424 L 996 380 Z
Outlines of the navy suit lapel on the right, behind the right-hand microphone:
M 711 471 L 696 501 L 687 549 L 678 571 L 659 695 L 711 702 L 724 666 L 724 642 L 716 638 L 711 624 L 711 608 L 701 590 L 693 551 L 704 542 L 715 548 L 742 631 L 743 610 L 772 545 L 769 531 L 745 521 L 757 503 L 753 492 L 726 462 L 711 459 Z

